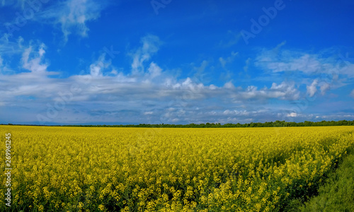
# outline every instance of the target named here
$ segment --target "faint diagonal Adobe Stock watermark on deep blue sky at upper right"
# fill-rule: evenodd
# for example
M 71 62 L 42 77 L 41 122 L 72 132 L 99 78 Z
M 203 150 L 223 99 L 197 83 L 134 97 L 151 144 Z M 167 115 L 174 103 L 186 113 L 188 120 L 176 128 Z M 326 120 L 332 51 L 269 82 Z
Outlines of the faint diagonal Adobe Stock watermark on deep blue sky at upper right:
M 278 11 L 282 11 L 284 8 L 285 4 L 282 0 L 275 0 L 274 6 L 270 6 L 269 8 L 262 8 L 264 14 L 259 16 L 257 20 L 251 18 L 250 31 L 241 30 L 241 35 L 244 38 L 246 45 L 249 45 L 250 38 L 255 38 L 256 35 L 261 33 L 263 28 L 270 23 L 270 20 L 273 20 L 278 15 Z

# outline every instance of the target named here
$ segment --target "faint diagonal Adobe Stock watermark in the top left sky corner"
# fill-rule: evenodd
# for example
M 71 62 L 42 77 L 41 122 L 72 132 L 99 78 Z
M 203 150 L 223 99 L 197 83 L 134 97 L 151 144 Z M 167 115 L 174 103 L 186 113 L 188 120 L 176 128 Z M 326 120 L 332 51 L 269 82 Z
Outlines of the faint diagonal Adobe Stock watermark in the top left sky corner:
M 49 0 L 26 0 L 23 13 L 16 12 L 14 22 L 5 24 L 8 35 L 12 36 L 14 31 L 19 31 L 23 28 L 27 24 L 27 20 L 32 19 L 35 13 L 40 11 L 42 4 L 47 4 L 48 2 Z

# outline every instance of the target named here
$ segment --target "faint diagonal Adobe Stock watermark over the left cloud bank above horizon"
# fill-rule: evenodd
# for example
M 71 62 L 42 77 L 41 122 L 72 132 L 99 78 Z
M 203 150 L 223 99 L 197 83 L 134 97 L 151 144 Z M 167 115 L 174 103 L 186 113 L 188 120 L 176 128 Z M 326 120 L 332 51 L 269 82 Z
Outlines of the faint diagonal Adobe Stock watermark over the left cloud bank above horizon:
M 112 59 L 115 58 L 116 54 L 119 54 L 120 52 L 114 51 L 113 46 L 110 46 L 110 49 L 107 47 L 103 47 L 103 50 L 105 51 L 106 54 Z M 103 64 L 102 61 L 99 61 L 98 64 L 96 64 L 99 68 L 104 68 L 105 64 Z M 80 75 L 84 71 L 80 72 Z M 89 85 L 92 81 L 92 76 L 91 74 L 84 75 L 84 85 Z M 82 92 L 83 88 L 78 83 L 73 83 L 69 90 L 67 92 L 61 92 L 59 91 L 57 93 L 57 100 L 55 100 L 54 104 L 47 103 L 47 111 L 46 114 L 37 114 L 37 120 L 40 122 L 40 125 L 45 125 L 47 122 L 51 122 L 53 119 L 55 119 L 59 112 L 64 110 L 65 107 L 69 102 L 72 102 L 74 95 L 79 95 Z

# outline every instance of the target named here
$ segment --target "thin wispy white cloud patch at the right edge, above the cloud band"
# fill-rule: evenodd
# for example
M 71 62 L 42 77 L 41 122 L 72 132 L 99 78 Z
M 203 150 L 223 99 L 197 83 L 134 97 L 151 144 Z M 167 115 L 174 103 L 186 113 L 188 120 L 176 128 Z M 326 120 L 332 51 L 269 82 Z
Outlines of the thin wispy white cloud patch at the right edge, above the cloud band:
M 281 49 L 263 49 L 255 59 L 255 65 L 271 77 L 290 78 L 297 85 L 305 84 L 307 94 L 312 97 L 317 92 L 325 95 L 330 89 L 346 85 L 354 78 L 354 64 L 338 54 L 338 49 L 324 49 L 316 54 Z M 313 81 L 311 85 L 308 81 Z

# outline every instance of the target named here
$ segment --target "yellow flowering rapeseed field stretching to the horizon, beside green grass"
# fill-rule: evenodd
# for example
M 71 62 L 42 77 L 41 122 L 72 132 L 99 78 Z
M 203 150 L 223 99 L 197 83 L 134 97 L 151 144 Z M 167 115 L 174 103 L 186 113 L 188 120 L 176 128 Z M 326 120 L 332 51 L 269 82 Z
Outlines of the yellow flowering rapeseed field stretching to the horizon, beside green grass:
M 353 132 L 0 126 L 1 166 L 11 133 L 13 211 L 275 211 L 316 190 Z

